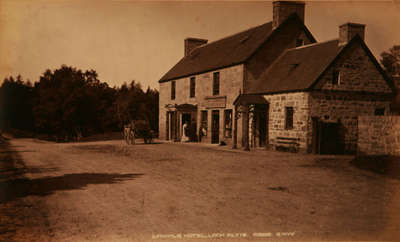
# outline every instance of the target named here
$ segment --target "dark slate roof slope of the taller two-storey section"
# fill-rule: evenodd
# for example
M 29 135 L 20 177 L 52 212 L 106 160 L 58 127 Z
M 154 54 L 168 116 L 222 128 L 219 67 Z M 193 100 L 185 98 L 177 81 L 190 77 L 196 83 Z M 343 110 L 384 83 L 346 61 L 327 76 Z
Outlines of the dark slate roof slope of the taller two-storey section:
M 198 47 L 183 57 L 159 82 L 242 63 L 271 32 L 272 22 L 268 22 Z

